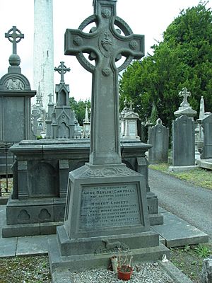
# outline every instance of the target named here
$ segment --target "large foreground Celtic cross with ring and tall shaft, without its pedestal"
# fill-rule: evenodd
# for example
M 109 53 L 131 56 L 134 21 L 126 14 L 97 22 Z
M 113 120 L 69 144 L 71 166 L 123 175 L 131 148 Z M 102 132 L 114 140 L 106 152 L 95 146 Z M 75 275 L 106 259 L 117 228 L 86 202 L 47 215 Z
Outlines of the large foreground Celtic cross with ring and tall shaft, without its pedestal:
M 93 74 L 91 165 L 122 163 L 119 145 L 118 74 L 132 59 L 140 59 L 144 55 L 144 36 L 134 35 L 129 25 L 117 17 L 116 2 L 93 1 L 94 15 L 83 21 L 78 30 L 67 29 L 65 33 L 65 54 L 75 55 L 81 65 Z M 90 33 L 84 33 L 83 29 L 90 23 L 95 23 L 96 27 Z M 95 65 L 83 53 L 88 53 L 89 59 L 95 60 Z M 126 59 L 117 67 L 115 62 L 122 55 Z

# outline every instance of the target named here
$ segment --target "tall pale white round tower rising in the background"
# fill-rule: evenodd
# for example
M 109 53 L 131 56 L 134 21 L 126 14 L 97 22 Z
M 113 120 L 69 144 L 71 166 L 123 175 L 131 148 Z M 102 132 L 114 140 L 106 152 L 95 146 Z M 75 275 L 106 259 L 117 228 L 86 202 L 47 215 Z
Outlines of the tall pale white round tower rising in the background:
M 35 90 L 40 83 L 45 110 L 49 94 L 54 95 L 54 39 L 53 0 L 34 0 L 34 56 L 33 83 Z

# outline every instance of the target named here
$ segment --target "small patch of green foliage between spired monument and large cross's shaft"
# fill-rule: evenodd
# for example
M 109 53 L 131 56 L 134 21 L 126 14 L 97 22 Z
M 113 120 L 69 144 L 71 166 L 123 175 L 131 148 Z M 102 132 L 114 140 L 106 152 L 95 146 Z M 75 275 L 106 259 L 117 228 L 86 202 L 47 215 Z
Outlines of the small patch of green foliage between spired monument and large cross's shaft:
M 76 101 L 74 97 L 69 98 L 69 103 L 71 110 L 75 112 L 76 120 L 82 126 L 83 120 L 86 116 L 86 105 L 88 106 L 88 111 L 90 110 L 90 100 L 78 100 Z

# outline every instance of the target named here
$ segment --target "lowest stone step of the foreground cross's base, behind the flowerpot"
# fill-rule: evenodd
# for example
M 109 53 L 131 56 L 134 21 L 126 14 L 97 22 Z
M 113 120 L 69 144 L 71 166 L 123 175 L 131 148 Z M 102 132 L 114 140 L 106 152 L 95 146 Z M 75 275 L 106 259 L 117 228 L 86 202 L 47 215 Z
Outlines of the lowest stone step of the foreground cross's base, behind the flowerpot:
M 133 255 L 134 262 L 141 260 L 158 260 L 161 259 L 164 254 L 169 258 L 170 250 L 163 246 L 163 244 L 159 244 L 159 246 L 155 247 L 132 249 L 131 254 Z M 51 239 L 49 241 L 49 264 L 52 273 L 55 270 L 69 269 L 73 272 L 94 266 L 107 268 L 112 255 L 114 255 L 114 253 L 61 256 L 57 240 Z

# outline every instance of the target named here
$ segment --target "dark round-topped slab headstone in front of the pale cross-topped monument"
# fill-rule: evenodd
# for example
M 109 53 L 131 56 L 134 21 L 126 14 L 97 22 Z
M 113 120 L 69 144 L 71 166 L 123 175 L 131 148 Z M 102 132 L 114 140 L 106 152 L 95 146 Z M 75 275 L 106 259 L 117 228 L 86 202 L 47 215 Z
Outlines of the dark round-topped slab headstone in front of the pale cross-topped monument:
M 186 115 L 172 122 L 172 165 L 195 165 L 194 121 Z

